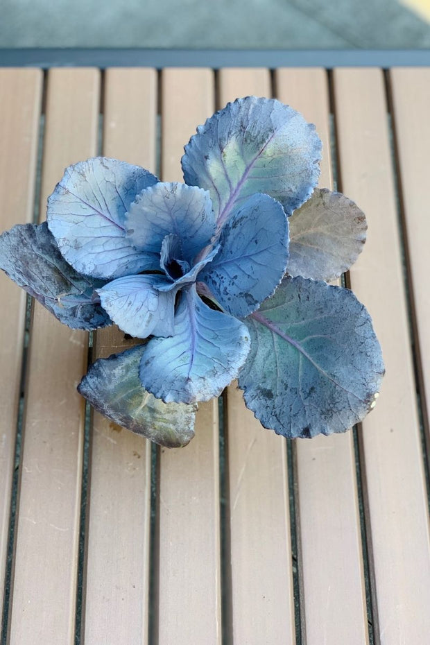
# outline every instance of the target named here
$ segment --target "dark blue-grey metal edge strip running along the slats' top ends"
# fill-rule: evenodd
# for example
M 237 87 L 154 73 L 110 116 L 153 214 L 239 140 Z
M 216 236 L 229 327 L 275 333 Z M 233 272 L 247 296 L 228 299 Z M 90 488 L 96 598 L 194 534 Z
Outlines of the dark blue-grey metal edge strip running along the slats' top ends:
M 0 49 L 0 67 L 430 67 L 430 50 Z

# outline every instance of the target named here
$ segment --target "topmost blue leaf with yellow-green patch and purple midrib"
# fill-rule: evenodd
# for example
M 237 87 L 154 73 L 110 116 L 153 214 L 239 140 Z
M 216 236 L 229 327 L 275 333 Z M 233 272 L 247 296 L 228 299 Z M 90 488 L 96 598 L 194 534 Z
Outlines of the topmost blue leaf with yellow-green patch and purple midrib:
M 315 126 L 273 98 L 228 103 L 197 128 L 182 157 L 184 180 L 209 191 L 221 227 L 254 193 L 278 200 L 287 215 L 318 182 L 321 141 Z

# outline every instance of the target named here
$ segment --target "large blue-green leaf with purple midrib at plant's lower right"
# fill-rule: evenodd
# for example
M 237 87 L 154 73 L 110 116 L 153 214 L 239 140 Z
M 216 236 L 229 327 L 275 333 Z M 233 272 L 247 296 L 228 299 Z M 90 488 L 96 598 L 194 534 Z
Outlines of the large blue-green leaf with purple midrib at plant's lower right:
M 344 432 L 375 405 L 381 348 L 349 289 L 287 277 L 246 323 L 239 386 L 264 427 L 289 438 Z

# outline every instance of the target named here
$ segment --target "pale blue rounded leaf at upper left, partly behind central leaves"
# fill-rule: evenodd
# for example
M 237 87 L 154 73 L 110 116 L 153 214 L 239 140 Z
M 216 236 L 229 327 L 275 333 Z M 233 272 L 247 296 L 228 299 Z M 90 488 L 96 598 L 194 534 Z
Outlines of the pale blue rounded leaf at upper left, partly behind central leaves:
M 49 230 L 79 273 L 103 279 L 157 268 L 126 234 L 126 212 L 157 178 L 139 166 L 96 157 L 69 166 L 48 200 Z

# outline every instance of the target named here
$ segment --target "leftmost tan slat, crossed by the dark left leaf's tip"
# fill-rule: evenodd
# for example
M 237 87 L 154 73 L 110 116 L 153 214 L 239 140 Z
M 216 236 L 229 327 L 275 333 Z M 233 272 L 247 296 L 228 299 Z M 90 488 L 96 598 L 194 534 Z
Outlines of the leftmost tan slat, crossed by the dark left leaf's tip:
M 0 230 L 32 221 L 42 73 L 0 69 Z M 21 379 L 26 295 L 0 275 L 0 607 L 8 549 L 10 494 Z

